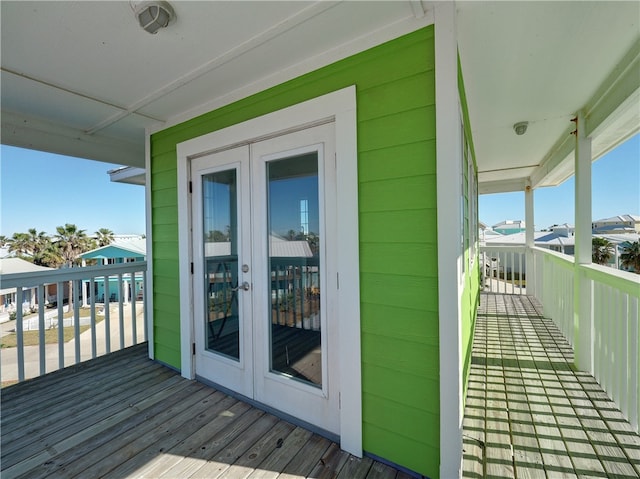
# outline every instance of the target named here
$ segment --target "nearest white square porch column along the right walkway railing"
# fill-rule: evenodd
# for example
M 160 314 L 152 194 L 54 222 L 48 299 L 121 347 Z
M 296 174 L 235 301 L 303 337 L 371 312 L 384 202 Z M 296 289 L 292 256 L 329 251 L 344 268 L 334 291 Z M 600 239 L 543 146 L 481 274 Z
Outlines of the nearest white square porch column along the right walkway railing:
M 574 272 L 575 361 L 578 368 L 593 371 L 592 286 L 581 272 L 591 264 L 591 138 L 585 136 L 585 118 L 578 113 L 576 123 L 575 202 L 576 246 Z

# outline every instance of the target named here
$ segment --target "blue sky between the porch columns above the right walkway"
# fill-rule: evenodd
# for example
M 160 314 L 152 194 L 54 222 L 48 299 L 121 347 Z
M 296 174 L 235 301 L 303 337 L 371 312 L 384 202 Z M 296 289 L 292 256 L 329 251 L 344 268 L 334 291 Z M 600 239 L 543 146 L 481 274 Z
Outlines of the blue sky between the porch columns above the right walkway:
M 592 219 L 640 215 L 640 135 L 627 140 L 593 163 Z M 537 230 L 553 224 L 575 224 L 575 181 L 572 176 L 556 187 L 534 191 Z M 491 226 L 502 220 L 524 220 L 524 193 L 481 195 L 480 221 Z

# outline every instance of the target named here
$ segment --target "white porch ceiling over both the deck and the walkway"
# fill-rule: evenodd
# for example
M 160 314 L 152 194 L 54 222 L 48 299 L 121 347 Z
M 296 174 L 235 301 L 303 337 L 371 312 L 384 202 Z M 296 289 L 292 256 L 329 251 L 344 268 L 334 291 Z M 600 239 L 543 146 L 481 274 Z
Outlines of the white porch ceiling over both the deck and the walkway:
M 2 143 L 144 167 L 145 129 L 433 22 L 420 1 L 173 1 L 177 21 L 150 35 L 132 3 L 0 3 Z M 566 179 L 578 110 L 596 154 L 639 131 L 639 2 L 457 7 L 481 192 Z

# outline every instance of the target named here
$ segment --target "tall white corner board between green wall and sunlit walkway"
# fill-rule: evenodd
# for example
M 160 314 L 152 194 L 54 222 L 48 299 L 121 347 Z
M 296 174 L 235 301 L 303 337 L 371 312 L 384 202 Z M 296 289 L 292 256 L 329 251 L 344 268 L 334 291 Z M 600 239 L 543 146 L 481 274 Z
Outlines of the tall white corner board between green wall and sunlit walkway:
M 438 177 L 438 314 L 440 477 L 462 471 L 461 245 L 462 115 L 458 92 L 456 5 L 435 7 L 436 171 Z M 445 211 L 449 209 L 449 211 Z M 453 214 L 451 214 L 451 209 Z M 455 238 L 451 241 L 451 238 Z

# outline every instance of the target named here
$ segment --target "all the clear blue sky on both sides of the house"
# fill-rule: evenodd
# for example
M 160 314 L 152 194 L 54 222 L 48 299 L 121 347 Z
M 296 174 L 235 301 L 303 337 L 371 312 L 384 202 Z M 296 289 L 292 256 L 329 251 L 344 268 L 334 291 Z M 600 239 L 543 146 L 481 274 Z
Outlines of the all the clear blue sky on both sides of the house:
M 0 149 L 0 234 L 36 228 L 54 234 L 73 223 L 92 234 L 145 232 L 144 188 L 112 183 L 118 165 L 80 160 L 2 145 Z M 600 158 L 592 170 L 592 218 L 640 215 L 640 135 Z M 524 193 L 482 195 L 480 220 L 488 225 L 524 219 Z M 538 229 L 574 223 L 574 179 L 534 193 Z

